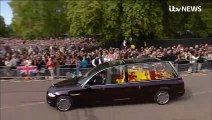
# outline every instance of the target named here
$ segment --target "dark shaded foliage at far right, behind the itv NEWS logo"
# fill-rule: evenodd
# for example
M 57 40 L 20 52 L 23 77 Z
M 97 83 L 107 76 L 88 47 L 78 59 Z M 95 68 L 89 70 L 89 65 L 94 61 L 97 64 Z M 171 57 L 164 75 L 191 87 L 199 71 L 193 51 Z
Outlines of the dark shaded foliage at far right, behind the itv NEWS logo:
M 169 5 L 201 6 L 201 12 L 169 12 L 163 9 L 163 26 L 165 38 L 211 37 L 212 2 L 207 0 L 173 1 L 165 0 L 161 7 Z M 188 32 L 190 31 L 190 32 Z

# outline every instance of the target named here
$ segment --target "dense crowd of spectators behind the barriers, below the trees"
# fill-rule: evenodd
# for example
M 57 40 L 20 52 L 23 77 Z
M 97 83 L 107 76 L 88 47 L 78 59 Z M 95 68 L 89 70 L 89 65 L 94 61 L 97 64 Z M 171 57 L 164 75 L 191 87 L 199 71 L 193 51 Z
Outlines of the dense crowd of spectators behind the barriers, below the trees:
M 170 47 L 136 47 L 126 41 L 119 48 L 102 48 L 94 38 L 66 38 L 50 40 L 1 41 L 0 66 L 37 66 L 49 69 L 54 76 L 57 68 L 89 68 L 118 59 L 153 57 L 175 63 L 203 63 L 212 61 L 212 45 L 176 45 Z M 96 48 L 92 50 L 92 48 Z

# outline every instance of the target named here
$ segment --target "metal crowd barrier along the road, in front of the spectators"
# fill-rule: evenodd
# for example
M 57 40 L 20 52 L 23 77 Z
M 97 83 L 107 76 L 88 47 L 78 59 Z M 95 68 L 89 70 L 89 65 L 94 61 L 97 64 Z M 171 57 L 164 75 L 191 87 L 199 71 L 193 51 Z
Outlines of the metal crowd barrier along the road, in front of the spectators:
M 179 73 L 190 73 L 190 72 L 205 72 L 205 71 L 212 71 L 212 62 L 206 63 L 196 63 L 196 64 L 174 64 L 177 72 Z M 85 74 L 91 68 L 80 68 L 81 75 Z M 71 75 L 78 75 L 76 68 L 64 68 L 59 67 L 54 70 L 55 76 L 58 78 L 66 78 L 68 77 L 67 74 L 69 73 L 69 77 Z M 5 78 L 22 78 L 23 76 L 20 75 L 19 70 L 17 69 L 7 69 L 6 67 L 0 67 L 0 79 Z M 48 69 L 43 69 L 38 71 L 38 74 L 35 76 L 30 77 L 39 77 L 39 78 L 46 78 L 50 77 L 50 72 Z

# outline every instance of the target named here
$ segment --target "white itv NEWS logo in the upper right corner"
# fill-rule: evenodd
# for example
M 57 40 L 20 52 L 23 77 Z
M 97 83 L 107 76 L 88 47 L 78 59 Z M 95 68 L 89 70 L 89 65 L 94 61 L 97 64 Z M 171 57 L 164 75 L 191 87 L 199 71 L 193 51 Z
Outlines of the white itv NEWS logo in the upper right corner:
M 181 7 L 175 7 L 169 5 L 169 11 L 170 12 L 201 12 L 202 8 L 201 6 L 181 6 Z

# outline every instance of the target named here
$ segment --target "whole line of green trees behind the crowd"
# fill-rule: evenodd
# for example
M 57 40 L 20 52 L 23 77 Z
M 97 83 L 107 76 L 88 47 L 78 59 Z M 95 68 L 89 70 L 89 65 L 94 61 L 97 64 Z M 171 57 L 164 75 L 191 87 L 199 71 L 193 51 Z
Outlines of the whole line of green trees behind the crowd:
M 201 6 L 201 12 L 170 12 L 169 6 Z M 212 36 L 207 0 L 11 0 L 11 27 L 24 39 L 74 36 L 103 41 Z

